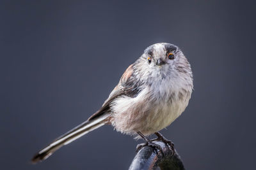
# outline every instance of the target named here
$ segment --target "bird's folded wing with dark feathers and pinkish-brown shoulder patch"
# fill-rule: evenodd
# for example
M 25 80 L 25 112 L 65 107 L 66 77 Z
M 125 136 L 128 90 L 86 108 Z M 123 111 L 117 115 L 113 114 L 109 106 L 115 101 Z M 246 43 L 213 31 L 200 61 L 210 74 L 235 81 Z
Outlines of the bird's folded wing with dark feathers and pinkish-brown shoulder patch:
M 116 97 L 120 96 L 129 96 L 134 97 L 138 95 L 141 91 L 138 81 L 134 79 L 134 69 L 131 64 L 124 72 L 118 85 L 116 85 L 115 89 L 112 90 L 111 94 L 109 95 L 108 99 L 104 102 L 100 110 L 94 113 L 88 120 L 93 120 L 97 117 L 100 117 L 104 113 L 108 112 L 110 109 L 110 104 L 113 102 Z

